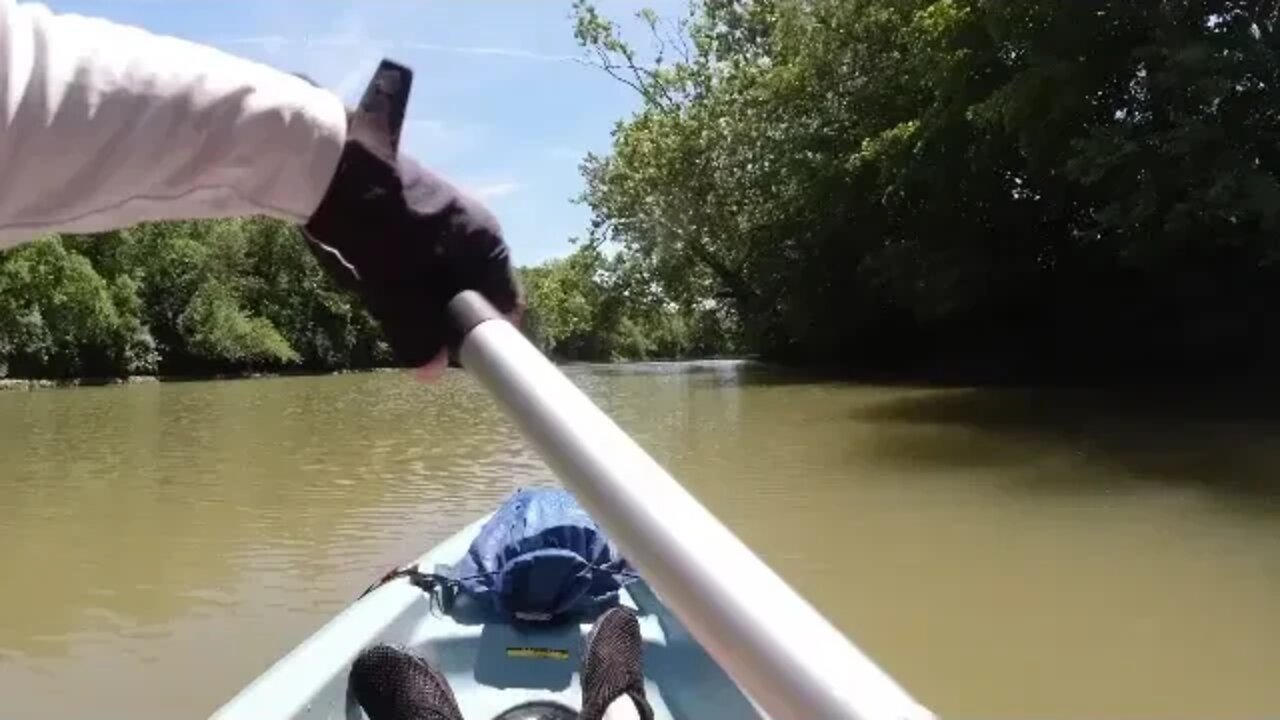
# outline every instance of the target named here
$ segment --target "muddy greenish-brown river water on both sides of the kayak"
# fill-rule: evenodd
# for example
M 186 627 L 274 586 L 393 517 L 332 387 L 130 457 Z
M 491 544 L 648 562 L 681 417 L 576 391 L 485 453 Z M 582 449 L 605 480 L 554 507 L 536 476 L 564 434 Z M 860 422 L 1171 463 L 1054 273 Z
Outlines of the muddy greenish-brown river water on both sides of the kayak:
M 568 373 L 943 715 L 1280 710 L 1280 415 L 1257 397 Z M 205 715 L 547 482 L 462 373 L 3 393 L 4 716 Z

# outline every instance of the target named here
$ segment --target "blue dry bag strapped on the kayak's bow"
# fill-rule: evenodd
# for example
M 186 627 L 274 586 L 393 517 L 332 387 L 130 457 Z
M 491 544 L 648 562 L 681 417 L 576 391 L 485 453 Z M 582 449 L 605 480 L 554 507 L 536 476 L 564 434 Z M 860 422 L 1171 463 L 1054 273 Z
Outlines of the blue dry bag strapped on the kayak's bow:
M 563 489 L 518 489 L 444 569 L 458 589 L 502 620 L 549 623 L 614 605 L 634 575 Z

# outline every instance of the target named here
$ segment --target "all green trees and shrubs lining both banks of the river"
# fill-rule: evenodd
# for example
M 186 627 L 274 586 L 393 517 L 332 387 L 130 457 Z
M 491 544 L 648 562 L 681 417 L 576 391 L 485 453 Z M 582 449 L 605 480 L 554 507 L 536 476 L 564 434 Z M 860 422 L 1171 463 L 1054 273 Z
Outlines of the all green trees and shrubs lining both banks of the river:
M 577 0 L 573 18 L 639 105 L 580 165 L 585 236 L 520 269 L 548 356 L 983 384 L 1280 377 L 1276 13 L 703 0 L 623 31 Z M 0 378 L 388 364 L 280 222 L 0 254 Z

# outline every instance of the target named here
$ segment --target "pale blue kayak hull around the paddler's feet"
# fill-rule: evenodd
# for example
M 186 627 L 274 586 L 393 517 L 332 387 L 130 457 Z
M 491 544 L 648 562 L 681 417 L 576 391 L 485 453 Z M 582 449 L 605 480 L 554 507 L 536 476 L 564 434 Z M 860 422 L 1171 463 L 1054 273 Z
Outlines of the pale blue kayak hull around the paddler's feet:
M 484 520 L 419 559 L 422 571 L 466 555 Z M 662 720 L 764 717 L 710 660 L 643 582 L 630 583 L 622 603 L 639 612 L 645 646 L 645 685 Z M 214 720 L 358 720 L 347 674 L 366 647 L 389 643 L 428 660 L 449 680 L 467 720 L 492 720 L 530 701 L 581 706 L 579 670 L 590 625 L 529 629 L 479 623 L 466 603 L 440 610 L 404 578 L 366 594 L 214 714 Z

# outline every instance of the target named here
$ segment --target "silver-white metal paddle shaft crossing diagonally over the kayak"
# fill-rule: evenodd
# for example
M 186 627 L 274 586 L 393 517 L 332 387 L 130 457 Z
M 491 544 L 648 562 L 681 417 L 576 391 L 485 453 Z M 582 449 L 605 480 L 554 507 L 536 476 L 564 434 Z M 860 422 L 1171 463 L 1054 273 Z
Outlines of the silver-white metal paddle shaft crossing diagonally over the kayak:
M 717 664 L 774 720 L 931 720 L 479 293 L 462 366 Z

